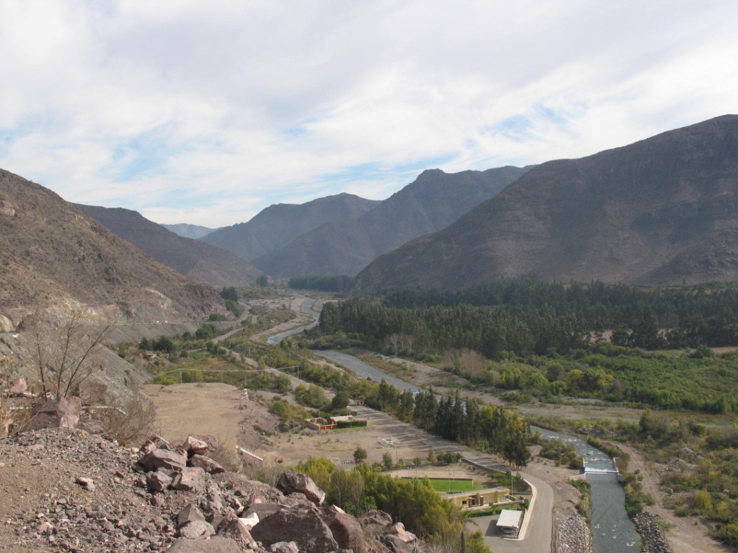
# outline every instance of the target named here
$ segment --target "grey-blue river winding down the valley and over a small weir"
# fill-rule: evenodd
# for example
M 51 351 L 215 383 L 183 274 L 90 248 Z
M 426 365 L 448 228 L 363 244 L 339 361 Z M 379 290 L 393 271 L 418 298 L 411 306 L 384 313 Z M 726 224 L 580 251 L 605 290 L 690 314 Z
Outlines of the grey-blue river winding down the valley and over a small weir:
M 269 338 L 269 344 L 279 342 L 289 335 L 302 332 L 306 328 L 317 324 L 319 313 L 312 309 L 314 299 L 306 297 L 303 302 L 303 312 L 310 313 L 315 322 L 307 327 L 290 330 L 288 333 L 277 334 Z M 410 390 L 420 392 L 422 389 L 414 384 L 405 382 L 393 375 L 389 375 L 376 366 L 365 363 L 354 355 L 334 350 L 314 351 L 316 355 L 329 359 L 338 364 L 348 367 L 356 375 L 373 380 L 384 379 L 388 384 L 399 390 Z M 557 438 L 568 442 L 576 448 L 576 452 L 584 459 L 584 467 L 590 469 L 613 469 L 615 467 L 613 458 L 593 448 L 583 439 L 547 430 L 546 428 L 531 427 L 531 431 L 540 431 L 544 438 Z M 588 473 L 587 481 L 592 487 L 592 546 L 595 553 L 630 553 L 641 551 L 641 538 L 635 531 L 635 525 L 625 512 L 625 495 L 623 488 L 618 483 L 615 473 Z

